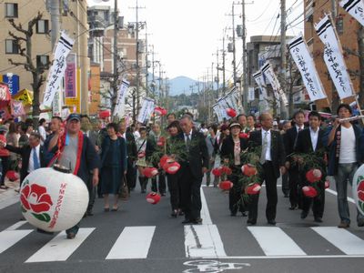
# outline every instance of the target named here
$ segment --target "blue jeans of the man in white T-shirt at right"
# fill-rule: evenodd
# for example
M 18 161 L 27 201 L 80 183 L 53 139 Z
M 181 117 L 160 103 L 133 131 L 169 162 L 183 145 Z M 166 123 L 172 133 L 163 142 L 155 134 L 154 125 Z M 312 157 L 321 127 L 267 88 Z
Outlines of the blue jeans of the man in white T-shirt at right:
M 348 180 L 352 186 L 352 179 L 359 167 L 358 163 L 339 164 L 338 174 L 335 176 L 336 190 L 338 191 L 338 208 L 341 222 L 350 224 L 350 214 L 348 205 Z M 363 221 L 364 216 L 357 209 L 357 221 Z

